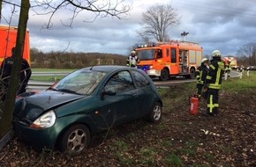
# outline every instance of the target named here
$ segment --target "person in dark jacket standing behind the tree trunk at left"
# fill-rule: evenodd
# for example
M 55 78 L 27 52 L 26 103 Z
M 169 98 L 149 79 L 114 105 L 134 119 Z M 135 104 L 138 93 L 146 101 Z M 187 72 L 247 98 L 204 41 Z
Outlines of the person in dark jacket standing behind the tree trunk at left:
M 11 57 L 7 57 L 6 59 L 4 59 L 4 62 L 2 62 L 1 64 L 1 71 L 2 71 L 1 79 L 4 83 L 5 92 L 8 89 L 10 78 L 11 78 L 11 69 L 14 63 L 14 57 L 13 57 L 14 53 L 15 53 L 15 47 L 12 47 Z M 26 92 L 26 85 L 28 83 L 28 80 L 30 79 L 30 76 L 31 76 L 30 66 L 26 61 L 26 59 L 22 59 L 21 69 L 19 72 L 19 89 L 17 91 L 17 95 Z

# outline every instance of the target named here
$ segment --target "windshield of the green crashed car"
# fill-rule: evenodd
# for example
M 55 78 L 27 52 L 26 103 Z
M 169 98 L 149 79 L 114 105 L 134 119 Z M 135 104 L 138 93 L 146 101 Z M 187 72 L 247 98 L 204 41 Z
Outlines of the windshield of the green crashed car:
M 78 70 L 65 76 L 50 90 L 75 94 L 91 94 L 107 73 L 94 70 Z

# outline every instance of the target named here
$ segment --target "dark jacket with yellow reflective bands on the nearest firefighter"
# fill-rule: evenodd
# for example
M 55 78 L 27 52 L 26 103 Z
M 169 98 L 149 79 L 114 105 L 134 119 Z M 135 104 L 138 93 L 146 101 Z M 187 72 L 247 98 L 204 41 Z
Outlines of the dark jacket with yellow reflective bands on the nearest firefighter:
M 207 73 L 205 86 L 210 89 L 221 89 L 224 68 L 225 65 L 221 60 L 213 60 Z

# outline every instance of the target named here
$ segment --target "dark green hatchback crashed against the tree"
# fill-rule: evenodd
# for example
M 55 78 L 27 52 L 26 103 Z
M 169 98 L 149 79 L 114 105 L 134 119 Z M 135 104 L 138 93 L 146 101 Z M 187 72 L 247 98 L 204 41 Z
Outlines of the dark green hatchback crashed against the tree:
M 79 154 L 91 137 L 139 118 L 161 120 L 162 99 L 141 69 L 94 66 L 65 76 L 46 91 L 19 95 L 13 129 L 34 149 Z

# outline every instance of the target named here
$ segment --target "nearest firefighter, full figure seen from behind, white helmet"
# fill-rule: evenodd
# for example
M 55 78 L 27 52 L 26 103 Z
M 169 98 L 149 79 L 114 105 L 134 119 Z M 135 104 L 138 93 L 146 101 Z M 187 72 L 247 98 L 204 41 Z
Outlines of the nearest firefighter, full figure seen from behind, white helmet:
M 224 73 L 224 63 L 222 62 L 221 52 L 215 50 L 212 53 L 212 58 L 203 88 L 204 92 L 207 91 L 207 114 L 211 116 L 218 113 L 219 90 L 221 89 L 222 76 Z

